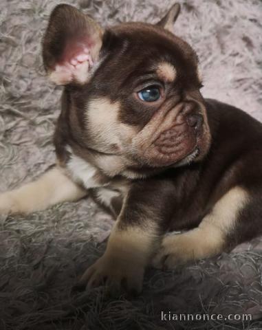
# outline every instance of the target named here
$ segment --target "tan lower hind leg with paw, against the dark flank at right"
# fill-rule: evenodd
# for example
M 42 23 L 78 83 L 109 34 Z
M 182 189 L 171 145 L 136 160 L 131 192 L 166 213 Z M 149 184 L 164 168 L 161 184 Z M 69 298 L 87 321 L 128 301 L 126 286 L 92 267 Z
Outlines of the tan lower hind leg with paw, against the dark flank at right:
M 166 267 L 215 256 L 224 247 L 226 234 L 234 227 L 237 214 L 248 201 L 248 192 L 235 187 L 226 193 L 201 221 L 198 228 L 184 234 L 166 236 L 162 248 L 153 260 L 155 267 L 162 267 L 162 259 Z

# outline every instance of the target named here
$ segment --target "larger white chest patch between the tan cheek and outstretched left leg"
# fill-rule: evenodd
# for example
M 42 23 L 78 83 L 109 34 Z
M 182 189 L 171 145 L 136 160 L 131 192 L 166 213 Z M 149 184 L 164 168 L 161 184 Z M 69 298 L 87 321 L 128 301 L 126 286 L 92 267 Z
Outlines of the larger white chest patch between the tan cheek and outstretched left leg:
M 71 153 L 69 162 L 67 162 L 67 170 L 69 170 L 72 179 L 85 186 L 86 189 L 102 186 L 96 179 L 97 168 L 74 155 L 70 147 L 67 147 L 67 151 Z

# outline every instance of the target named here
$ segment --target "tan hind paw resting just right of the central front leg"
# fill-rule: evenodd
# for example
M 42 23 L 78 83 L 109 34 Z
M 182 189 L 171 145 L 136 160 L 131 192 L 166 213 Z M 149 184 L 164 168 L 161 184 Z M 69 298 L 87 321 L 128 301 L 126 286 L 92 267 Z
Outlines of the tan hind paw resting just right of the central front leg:
M 160 250 L 153 257 L 152 265 L 162 270 L 171 270 L 178 265 L 192 261 L 195 246 L 187 234 L 175 234 L 164 237 Z

